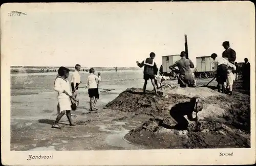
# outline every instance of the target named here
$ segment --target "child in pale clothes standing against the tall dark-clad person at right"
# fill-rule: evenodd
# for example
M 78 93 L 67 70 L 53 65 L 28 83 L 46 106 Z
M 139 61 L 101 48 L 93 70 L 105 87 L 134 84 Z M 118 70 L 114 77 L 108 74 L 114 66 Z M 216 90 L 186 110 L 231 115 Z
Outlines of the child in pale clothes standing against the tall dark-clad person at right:
M 236 71 L 237 67 L 227 62 L 227 88 L 226 93 L 231 96 L 232 95 L 232 89 L 233 89 L 233 81 L 236 79 L 236 75 L 233 74 L 233 71 Z

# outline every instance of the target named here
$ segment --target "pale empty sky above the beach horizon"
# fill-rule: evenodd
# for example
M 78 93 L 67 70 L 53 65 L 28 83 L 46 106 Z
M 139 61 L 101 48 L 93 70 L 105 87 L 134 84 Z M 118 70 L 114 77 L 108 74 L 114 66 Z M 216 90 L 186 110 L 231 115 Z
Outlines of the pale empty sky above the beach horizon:
M 62 7 L 62 8 L 61 8 Z M 150 52 L 160 66 L 163 55 L 184 51 L 189 58 L 217 53 L 230 41 L 237 61 L 254 52 L 254 6 L 251 3 L 75 4 L 13 10 L 5 39 L 11 65 L 136 67 Z M 2 14 L 2 13 L 1 13 Z M 254 40 L 254 41 L 253 41 Z

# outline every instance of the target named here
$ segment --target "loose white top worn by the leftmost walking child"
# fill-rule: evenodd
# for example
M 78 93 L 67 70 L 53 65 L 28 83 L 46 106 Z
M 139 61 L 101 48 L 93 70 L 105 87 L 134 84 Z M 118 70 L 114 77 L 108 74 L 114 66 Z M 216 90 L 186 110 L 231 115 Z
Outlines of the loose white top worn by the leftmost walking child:
M 66 93 L 63 93 L 63 91 L 67 91 L 70 96 L 72 96 L 72 93 L 70 91 L 69 87 L 69 81 L 65 80 L 63 78 L 56 78 L 55 83 L 54 83 L 54 90 L 58 92 L 58 97 L 59 99 L 64 99 L 67 98 L 69 99 L 69 96 Z

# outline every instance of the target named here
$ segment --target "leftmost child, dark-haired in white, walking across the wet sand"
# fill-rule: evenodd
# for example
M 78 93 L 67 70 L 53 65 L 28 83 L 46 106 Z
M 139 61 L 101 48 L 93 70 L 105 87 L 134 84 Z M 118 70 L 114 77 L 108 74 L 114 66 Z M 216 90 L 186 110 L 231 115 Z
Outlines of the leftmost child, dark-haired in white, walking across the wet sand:
M 57 115 L 56 121 L 52 125 L 52 128 L 60 129 L 58 125 L 59 120 L 65 113 L 67 113 L 67 117 L 69 120 L 70 126 L 74 126 L 71 119 L 71 99 L 76 101 L 76 99 L 72 96 L 70 91 L 70 84 L 67 78 L 69 77 L 70 70 L 66 67 L 59 67 L 58 69 L 58 77 L 54 83 L 54 90 L 58 92 L 58 103 L 59 103 L 59 111 L 60 113 Z M 70 99 L 71 98 L 71 99 Z

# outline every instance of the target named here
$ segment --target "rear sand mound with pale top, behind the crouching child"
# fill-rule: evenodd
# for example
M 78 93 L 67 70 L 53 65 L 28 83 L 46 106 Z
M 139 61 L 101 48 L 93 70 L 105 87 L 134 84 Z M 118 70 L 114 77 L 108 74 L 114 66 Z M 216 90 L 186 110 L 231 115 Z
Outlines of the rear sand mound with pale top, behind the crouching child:
M 211 116 L 222 116 L 225 113 L 225 106 L 229 104 L 224 102 L 224 100 L 228 101 L 226 95 L 207 87 L 180 88 L 173 84 L 171 86 L 163 86 L 159 91 L 162 92 L 162 96 L 155 96 L 153 92 L 142 94 L 142 89 L 126 89 L 116 99 L 107 104 L 105 108 L 154 116 L 169 115 L 169 110 L 174 105 L 189 102 L 192 97 L 199 96 L 204 104 L 204 109 L 198 116 L 203 119 Z M 207 100 L 209 97 L 215 98 L 212 99 L 216 100 L 215 103 L 211 99 Z M 221 102 L 224 102 L 222 107 L 219 105 Z

